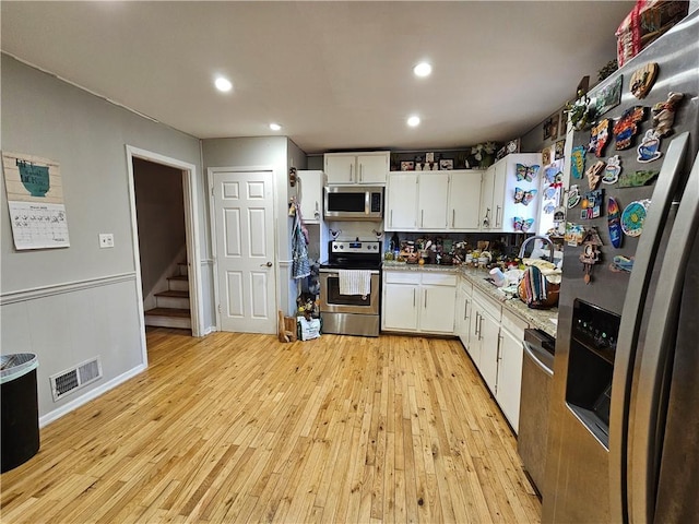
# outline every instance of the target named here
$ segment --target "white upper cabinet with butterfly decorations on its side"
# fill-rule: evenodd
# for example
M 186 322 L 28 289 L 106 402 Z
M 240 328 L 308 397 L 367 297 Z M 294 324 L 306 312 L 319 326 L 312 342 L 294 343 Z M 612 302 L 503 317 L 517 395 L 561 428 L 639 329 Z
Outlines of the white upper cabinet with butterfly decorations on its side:
M 522 233 L 519 225 L 524 224 L 526 231 L 536 231 L 533 219 L 541 199 L 541 164 L 540 153 L 518 153 L 499 159 L 485 171 L 481 190 L 481 230 Z

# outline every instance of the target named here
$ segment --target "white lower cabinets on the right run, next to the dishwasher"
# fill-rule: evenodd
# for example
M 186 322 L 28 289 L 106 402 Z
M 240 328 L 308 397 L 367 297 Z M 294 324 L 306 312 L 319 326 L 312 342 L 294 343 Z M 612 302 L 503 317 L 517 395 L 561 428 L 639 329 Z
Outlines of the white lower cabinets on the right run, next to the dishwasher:
M 466 350 L 517 433 L 522 342 L 529 324 L 478 289 L 473 289 L 469 314 L 469 342 L 464 342 Z

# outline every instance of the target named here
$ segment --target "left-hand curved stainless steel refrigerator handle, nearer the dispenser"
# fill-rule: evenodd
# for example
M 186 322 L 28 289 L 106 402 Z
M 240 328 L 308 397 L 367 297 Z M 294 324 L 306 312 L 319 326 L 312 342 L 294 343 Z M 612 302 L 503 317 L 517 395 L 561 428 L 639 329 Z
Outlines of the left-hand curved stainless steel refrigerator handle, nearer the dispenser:
M 636 249 L 633 270 L 621 310 L 621 323 L 614 357 L 612 402 L 609 408 L 609 516 L 612 522 L 628 522 L 627 443 L 631 382 L 639 330 L 645 307 L 652 269 L 670 214 L 675 190 L 682 178 L 680 168 L 689 133 L 677 135 L 667 147 L 653 190 L 652 203 Z

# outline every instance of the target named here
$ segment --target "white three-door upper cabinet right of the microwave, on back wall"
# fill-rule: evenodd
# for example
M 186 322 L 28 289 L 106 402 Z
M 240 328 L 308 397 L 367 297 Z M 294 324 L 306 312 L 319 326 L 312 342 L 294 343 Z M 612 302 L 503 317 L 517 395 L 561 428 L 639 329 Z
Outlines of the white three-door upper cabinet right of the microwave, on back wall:
M 477 170 L 389 174 L 387 230 L 477 231 Z

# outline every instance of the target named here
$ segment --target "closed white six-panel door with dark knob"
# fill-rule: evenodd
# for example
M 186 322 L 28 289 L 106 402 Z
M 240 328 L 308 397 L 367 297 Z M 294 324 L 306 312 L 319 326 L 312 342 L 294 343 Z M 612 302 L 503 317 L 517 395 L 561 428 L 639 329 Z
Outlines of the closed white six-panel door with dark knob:
M 214 172 L 221 331 L 276 333 L 271 171 Z

